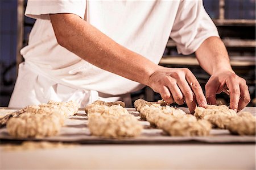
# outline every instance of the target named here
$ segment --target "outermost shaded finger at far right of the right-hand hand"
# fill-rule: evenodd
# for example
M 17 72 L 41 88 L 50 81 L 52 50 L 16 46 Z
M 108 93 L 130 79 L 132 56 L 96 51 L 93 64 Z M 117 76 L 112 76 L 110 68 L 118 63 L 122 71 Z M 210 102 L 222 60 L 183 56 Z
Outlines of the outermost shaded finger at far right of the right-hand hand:
M 243 108 L 245 108 L 245 106 L 248 105 L 248 103 L 250 102 L 251 98 L 250 98 L 250 93 L 248 90 L 248 86 L 246 85 L 246 82 L 243 81 L 240 84 L 240 99 L 238 102 L 238 111 L 242 110 Z

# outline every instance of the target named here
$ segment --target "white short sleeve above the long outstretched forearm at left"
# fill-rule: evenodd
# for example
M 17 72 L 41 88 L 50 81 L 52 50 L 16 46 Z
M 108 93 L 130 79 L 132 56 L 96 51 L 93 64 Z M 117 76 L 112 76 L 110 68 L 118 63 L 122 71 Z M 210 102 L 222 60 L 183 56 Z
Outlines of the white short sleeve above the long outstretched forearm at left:
M 35 19 L 49 19 L 49 14 L 71 13 L 84 19 L 86 0 L 28 0 L 25 15 Z

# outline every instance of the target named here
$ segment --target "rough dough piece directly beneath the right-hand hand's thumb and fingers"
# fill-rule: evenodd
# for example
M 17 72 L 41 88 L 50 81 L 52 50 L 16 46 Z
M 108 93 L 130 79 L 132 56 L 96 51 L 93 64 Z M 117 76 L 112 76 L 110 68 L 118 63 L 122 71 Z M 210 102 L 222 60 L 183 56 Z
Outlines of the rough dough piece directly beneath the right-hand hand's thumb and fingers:
M 216 106 L 216 105 L 207 105 L 206 108 L 204 107 L 196 107 L 195 109 L 195 117 L 197 118 L 204 118 L 205 115 L 214 115 L 214 114 L 218 114 L 218 113 L 222 113 L 222 114 L 226 114 L 229 116 L 236 116 L 236 112 L 232 109 L 229 109 L 228 106 L 226 105 L 220 105 L 220 106 Z

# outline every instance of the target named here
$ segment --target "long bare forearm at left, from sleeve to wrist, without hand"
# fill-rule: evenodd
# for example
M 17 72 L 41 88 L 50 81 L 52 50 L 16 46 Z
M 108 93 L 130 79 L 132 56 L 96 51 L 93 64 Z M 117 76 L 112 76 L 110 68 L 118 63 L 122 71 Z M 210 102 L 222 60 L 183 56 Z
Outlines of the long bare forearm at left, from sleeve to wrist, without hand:
M 115 43 L 77 15 L 52 14 L 50 17 L 59 44 L 99 68 L 147 85 L 158 67 Z

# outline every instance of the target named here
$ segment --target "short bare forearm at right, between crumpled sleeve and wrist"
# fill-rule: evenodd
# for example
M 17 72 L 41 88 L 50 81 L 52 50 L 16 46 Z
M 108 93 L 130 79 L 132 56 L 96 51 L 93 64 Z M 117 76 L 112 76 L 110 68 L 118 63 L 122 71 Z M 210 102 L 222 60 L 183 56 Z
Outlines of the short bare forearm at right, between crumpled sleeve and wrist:
M 206 39 L 197 49 L 196 57 L 201 67 L 210 75 L 224 69 L 233 72 L 226 47 L 218 37 Z

